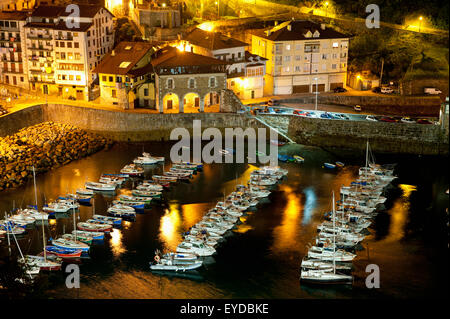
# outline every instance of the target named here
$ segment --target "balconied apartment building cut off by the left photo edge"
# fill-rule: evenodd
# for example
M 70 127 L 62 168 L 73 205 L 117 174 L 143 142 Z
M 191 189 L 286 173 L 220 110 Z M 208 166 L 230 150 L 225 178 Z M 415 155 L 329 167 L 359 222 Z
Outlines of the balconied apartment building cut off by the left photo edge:
M 23 11 L 0 11 L 1 81 L 24 89 L 29 88 L 23 28 L 27 16 Z

